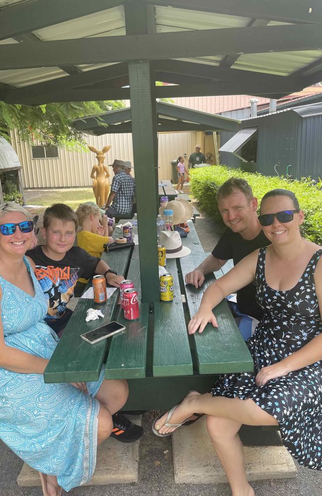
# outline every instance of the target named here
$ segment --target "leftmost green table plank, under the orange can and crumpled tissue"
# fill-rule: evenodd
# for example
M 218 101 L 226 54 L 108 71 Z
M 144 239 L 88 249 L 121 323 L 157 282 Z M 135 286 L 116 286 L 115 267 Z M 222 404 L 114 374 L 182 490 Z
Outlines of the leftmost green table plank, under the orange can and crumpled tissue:
M 125 269 L 132 248 L 104 252 L 102 259 L 118 274 L 125 275 Z M 97 305 L 93 300 L 80 299 L 64 333 L 44 372 L 45 382 L 79 382 L 98 380 L 107 349 L 107 340 L 90 345 L 80 338 L 88 332 L 113 320 L 113 313 L 119 298 L 116 290 L 105 305 Z M 102 310 L 104 318 L 85 321 L 89 308 Z

